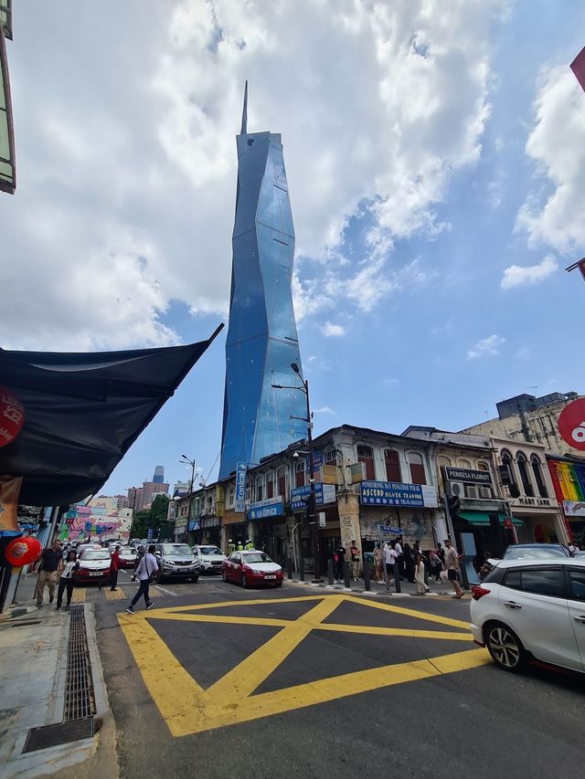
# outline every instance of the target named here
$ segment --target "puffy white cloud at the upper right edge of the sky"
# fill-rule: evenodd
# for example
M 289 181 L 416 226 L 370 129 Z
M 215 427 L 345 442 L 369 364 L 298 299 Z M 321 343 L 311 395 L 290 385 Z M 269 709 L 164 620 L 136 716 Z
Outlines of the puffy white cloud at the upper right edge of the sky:
M 585 100 L 566 65 L 543 74 L 534 111 L 536 123 L 526 152 L 548 184 L 546 192 L 552 188 L 552 193 L 532 192 L 518 213 L 516 226 L 527 231 L 531 245 L 544 242 L 570 254 L 585 243 Z

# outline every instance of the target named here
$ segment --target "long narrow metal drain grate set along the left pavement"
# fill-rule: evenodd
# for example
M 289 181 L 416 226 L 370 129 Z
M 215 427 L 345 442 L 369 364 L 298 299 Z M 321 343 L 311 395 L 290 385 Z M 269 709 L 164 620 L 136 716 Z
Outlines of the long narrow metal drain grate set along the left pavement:
M 83 606 L 70 611 L 64 721 L 82 720 L 95 712 L 90 652 Z

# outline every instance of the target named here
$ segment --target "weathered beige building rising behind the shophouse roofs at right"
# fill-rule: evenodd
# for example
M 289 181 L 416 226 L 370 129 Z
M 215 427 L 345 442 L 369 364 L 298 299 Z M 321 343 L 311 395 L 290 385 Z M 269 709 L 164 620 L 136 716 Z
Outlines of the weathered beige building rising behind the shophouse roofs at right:
M 552 454 L 579 456 L 580 451 L 569 447 L 558 433 L 560 412 L 578 397 L 576 392 L 555 392 L 541 397 L 516 395 L 496 404 L 498 416 L 495 419 L 466 427 L 461 432 L 526 441 L 539 444 Z

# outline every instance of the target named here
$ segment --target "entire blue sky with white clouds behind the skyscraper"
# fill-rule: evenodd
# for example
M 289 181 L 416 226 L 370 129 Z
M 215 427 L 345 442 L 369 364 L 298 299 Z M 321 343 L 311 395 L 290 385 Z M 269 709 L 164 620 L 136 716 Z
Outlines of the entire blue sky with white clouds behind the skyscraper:
M 17 0 L 9 349 L 199 341 L 226 321 L 236 146 L 282 132 L 315 432 L 460 429 L 585 391 L 580 0 Z M 218 339 L 107 490 L 217 472 Z

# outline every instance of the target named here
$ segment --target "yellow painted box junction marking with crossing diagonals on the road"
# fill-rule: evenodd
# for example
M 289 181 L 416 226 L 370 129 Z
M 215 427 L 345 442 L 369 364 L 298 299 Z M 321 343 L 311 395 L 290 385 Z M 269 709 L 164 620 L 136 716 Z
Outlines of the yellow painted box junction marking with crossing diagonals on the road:
M 218 616 L 208 614 L 216 608 L 247 605 L 271 605 L 314 601 L 315 605 L 296 619 L 257 616 Z M 366 608 L 378 608 L 391 614 L 440 626 L 460 628 L 464 632 L 430 629 L 409 629 L 343 625 L 324 622 L 337 606 L 354 603 Z M 200 613 L 203 612 L 203 613 Z M 158 636 L 150 620 L 176 620 L 223 625 L 253 625 L 281 627 L 279 632 L 252 652 L 239 665 L 204 690 L 187 673 L 175 655 Z M 303 709 L 329 700 L 346 698 L 368 690 L 379 690 L 415 679 L 428 679 L 445 673 L 477 668 L 490 661 L 484 649 L 467 649 L 434 658 L 392 663 L 354 673 L 294 685 L 284 690 L 273 690 L 254 695 L 261 683 L 293 652 L 295 647 L 314 630 L 358 633 L 379 637 L 412 637 L 453 641 L 469 641 L 469 624 L 459 619 L 425 614 L 415 609 L 380 604 L 354 595 L 309 595 L 299 598 L 279 598 L 224 601 L 222 603 L 171 606 L 137 612 L 130 616 L 119 614 L 118 621 L 126 637 L 144 684 L 151 694 L 161 716 L 173 736 L 210 731 L 226 725 L 269 717 L 284 711 Z M 176 691 L 181 690 L 177 695 Z

